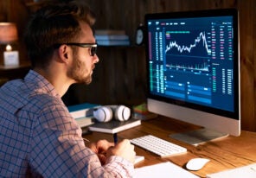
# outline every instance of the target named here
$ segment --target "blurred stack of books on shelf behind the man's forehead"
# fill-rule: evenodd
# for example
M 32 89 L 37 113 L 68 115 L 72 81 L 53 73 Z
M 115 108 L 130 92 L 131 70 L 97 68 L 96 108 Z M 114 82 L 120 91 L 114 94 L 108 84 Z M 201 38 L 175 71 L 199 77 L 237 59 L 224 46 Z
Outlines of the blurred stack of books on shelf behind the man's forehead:
M 95 39 L 99 46 L 129 46 L 130 39 L 125 30 L 98 29 Z

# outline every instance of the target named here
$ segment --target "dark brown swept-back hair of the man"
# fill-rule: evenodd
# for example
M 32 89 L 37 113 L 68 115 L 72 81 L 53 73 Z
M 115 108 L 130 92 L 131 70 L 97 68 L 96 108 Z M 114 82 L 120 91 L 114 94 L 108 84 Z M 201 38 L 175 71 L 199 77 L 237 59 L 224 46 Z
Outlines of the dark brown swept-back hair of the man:
M 80 23 L 91 27 L 95 16 L 81 1 L 55 0 L 42 4 L 30 19 L 24 41 L 32 67 L 47 67 L 54 52 L 54 44 L 77 42 Z

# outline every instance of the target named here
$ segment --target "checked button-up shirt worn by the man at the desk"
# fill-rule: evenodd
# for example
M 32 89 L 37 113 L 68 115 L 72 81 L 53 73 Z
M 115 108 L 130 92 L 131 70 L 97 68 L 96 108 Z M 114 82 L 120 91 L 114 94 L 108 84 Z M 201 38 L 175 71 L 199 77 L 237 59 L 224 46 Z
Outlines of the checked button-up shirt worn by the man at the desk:
M 131 162 L 102 166 L 47 79 L 30 70 L 0 88 L 0 176 L 131 177 Z

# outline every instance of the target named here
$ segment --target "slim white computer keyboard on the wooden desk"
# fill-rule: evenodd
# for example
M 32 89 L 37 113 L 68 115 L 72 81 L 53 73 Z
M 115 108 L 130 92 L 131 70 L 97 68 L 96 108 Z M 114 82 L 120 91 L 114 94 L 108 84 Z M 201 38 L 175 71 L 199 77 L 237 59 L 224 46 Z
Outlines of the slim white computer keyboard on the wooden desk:
M 150 152 L 157 154 L 158 156 L 172 156 L 180 153 L 187 152 L 186 148 L 179 146 L 175 143 L 170 143 L 162 138 L 147 135 L 144 137 L 137 137 L 130 140 L 131 143 L 147 149 Z

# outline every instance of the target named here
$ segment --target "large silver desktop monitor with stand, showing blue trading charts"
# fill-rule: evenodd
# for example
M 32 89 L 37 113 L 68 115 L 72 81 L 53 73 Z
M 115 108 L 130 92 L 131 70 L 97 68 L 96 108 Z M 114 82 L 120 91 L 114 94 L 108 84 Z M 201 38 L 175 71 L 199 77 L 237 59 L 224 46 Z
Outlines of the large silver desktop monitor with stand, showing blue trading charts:
M 240 135 L 238 17 L 234 9 L 145 15 L 149 111 L 204 128 L 171 137 L 197 145 Z

